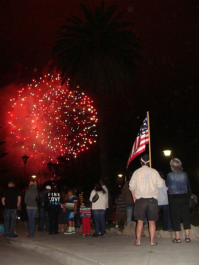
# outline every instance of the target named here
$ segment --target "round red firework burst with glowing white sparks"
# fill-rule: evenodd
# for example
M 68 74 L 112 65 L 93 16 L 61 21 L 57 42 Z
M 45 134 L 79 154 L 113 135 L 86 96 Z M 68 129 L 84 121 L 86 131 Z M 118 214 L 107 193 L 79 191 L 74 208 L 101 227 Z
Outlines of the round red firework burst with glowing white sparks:
M 74 158 L 96 142 L 97 111 L 85 93 L 61 86 L 59 75 L 33 80 L 10 99 L 11 134 L 24 154 L 43 163 Z

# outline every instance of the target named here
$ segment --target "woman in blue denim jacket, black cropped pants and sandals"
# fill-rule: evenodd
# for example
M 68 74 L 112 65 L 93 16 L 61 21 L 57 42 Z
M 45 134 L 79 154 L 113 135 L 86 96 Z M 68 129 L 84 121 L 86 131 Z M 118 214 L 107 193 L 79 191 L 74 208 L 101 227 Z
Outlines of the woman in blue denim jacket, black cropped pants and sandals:
M 170 161 L 172 172 L 167 175 L 166 184 L 168 187 L 170 212 L 175 232 L 173 243 L 181 243 L 180 231 L 181 220 L 185 230 L 185 242 L 190 243 L 190 210 L 189 210 L 189 192 L 188 176 L 183 172 L 182 163 L 178 158 Z

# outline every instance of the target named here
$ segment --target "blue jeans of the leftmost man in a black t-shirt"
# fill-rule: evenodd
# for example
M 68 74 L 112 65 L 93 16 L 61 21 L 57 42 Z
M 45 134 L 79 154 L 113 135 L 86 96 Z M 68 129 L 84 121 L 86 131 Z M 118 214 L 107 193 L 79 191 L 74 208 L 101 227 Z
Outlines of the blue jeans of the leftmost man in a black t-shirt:
M 17 209 L 4 209 L 4 237 L 14 236 Z

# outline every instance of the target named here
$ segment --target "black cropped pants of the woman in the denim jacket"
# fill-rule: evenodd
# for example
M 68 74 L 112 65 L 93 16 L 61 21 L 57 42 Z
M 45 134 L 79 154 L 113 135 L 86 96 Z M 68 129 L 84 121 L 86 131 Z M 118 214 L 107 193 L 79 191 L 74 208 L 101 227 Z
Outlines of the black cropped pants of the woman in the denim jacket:
M 189 195 L 182 198 L 169 198 L 171 219 L 174 231 L 181 231 L 181 221 L 184 229 L 191 229 Z

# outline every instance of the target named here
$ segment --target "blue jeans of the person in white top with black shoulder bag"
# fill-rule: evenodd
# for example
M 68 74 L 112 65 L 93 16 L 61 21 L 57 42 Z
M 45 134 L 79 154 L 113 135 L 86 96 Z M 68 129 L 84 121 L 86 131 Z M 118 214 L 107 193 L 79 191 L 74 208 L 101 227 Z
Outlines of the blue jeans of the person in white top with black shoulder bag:
M 103 236 L 105 234 L 105 210 L 92 210 L 95 219 L 95 234 Z

